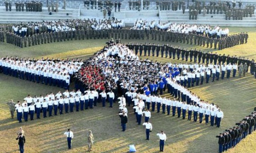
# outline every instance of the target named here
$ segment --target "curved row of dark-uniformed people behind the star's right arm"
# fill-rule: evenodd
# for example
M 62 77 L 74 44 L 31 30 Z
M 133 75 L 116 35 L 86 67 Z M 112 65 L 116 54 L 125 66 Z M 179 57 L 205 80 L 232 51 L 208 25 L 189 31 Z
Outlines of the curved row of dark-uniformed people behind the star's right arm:
M 250 73 L 252 75 L 255 75 L 256 78 L 256 63 L 254 59 L 249 60 L 249 58 L 245 57 L 237 57 L 237 56 L 230 56 L 230 55 L 221 55 L 213 52 L 201 52 L 200 50 L 196 49 L 184 49 L 180 47 L 172 47 L 169 44 L 138 44 L 138 43 L 128 43 L 126 44 L 129 49 L 132 49 L 136 55 L 140 56 L 161 56 L 161 57 L 166 57 L 166 58 L 172 58 L 172 59 L 178 59 L 178 60 L 183 60 L 183 61 L 190 61 L 190 62 L 195 62 L 195 63 L 204 63 L 206 65 L 212 63 L 214 65 L 223 65 L 225 63 L 229 64 L 236 64 L 236 65 L 246 65 L 247 68 L 246 70 L 242 70 L 245 72 L 248 72 L 248 67 L 250 66 Z M 144 54 L 143 54 L 144 52 Z

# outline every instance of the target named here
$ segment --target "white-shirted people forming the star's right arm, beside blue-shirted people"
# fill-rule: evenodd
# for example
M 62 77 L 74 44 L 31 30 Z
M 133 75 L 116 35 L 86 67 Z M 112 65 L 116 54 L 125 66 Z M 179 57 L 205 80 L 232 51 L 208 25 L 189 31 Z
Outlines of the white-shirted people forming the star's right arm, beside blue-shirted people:
M 231 71 L 233 72 L 233 77 L 236 77 L 236 73 L 238 70 L 237 64 L 222 64 L 219 65 L 218 63 L 216 65 L 213 65 L 212 63 L 205 65 L 202 64 L 171 64 L 167 63 L 168 69 L 163 71 L 161 73 L 162 77 L 165 77 L 166 74 L 170 73 L 168 71 L 171 71 L 172 77 L 175 77 L 176 81 L 180 83 L 182 86 L 185 87 L 191 87 L 191 86 L 197 86 L 200 84 L 203 84 L 204 82 L 214 82 L 215 80 L 224 79 L 225 73 L 226 78 L 231 77 Z M 176 73 L 177 72 L 177 73 Z

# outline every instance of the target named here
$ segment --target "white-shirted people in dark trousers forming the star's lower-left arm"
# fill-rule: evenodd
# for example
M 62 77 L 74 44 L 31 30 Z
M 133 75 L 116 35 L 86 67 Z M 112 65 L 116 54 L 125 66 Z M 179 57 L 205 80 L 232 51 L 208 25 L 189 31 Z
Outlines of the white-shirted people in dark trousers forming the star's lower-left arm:
M 34 120 L 34 113 L 36 113 L 36 118 L 40 119 L 40 113 L 43 112 L 43 118 L 50 117 L 53 115 L 69 113 L 74 111 L 84 111 L 87 109 L 93 109 L 97 106 L 99 96 L 101 98 L 106 98 L 107 96 L 112 99 L 115 95 L 112 91 L 108 93 L 98 93 L 96 90 L 87 90 L 82 93 L 80 90 L 68 91 L 61 93 L 60 91 L 56 94 L 52 92 L 46 95 L 40 95 L 37 97 L 31 97 L 28 95 L 23 99 L 23 102 L 17 101 L 15 108 L 17 110 L 17 120 L 21 123 L 22 116 L 24 121 L 28 121 L 28 115 L 30 115 L 30 120 Z M 102 103 L 103 104 L 103 103 Z M 110 103 L 112 107 L 113 103 Z M 48 111 L 48 115 L 47 115 Z

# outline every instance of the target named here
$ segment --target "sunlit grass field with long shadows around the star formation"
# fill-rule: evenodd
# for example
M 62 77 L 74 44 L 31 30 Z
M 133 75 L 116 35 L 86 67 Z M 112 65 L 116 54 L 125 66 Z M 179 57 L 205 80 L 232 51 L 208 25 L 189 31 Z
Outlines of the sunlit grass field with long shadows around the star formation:
M 230 28 L 231 33 L 249 31 L 249 41 L 233 48 L 216 51 L 218 54 L 256 58 L 256 30 L 255 28 Z M 56 42 L 29 48 L 17 48 L 13 45 L 0 43 L 1 56 L 18 57 L 60 57 L 60 58 L 87 58 L 102 48 L 107 40 L 85 40 L 72 42 Z M 149 42 L 147 40 L 124 40 L 124 42 Z M 167 43 L 150 41 L 152 43 Z M 169 43 L 170 44 L 170 43 Z M 174 46 L 185 48 L 200 48 L 205 51 L 214 51 L 198 46 L 171 43 Z M 215 52 L 215 51 L 214 51 Z M 142 57 L 145 58 L 145 57 Z M 147 58 L 147 57 L 146 57 Z M 167 58 L 149 57 L 162 62 L 170 61 Z M 180 62 L 171 60 L 171 62 Z M 79 111 L 48 117 L 45 119 L 17 123 L 10 119 L 5 104 L 8 99 L 22 100 L 27 94 L 40 95 L 58 92 L 57 87 L 46 86 L 18 80 L 0 74 L 0 153 L 18 153 L 16 132 L 20 126 L 25 130 L 27 142 L 25 153 L 85 153 L 86 133 L 92 130 L 95 136 L 93 153 L 127 153 L 128 145 L 135 144 L 138 153 L 157 153 L 158 139 L 156 133 L 164 130 L 167 134 L 165 145 L 166 153 L 217 153 L 217 134 L 228 127 L 233 127 L 245 115 L 253 111 L 256 101 L 256 80 L 250 74 L 244 78 L 224 79 L 215 83 L 208 83 L 191 88 L 202 99 L 220 105 L 224 112 L 221 128 L 211 127 L 182 120 L 177 117 L 153 113 L 151 123 L 153 132 L 150 141 L 145 140 L 145 129 L 136 125 L 135 116 L 128 114 L 127 131 L 121 132 L 118 116 L 118 106 L 102 108 L 98 105 L 93 110 Z M 63 90 L 61 90 L 64 92 Z M 168 96 L 168 95 L 166 95 Z M 133 111 L 129 111 L 133 112 Z M 63 133 L 71 128 L 74 132 L 73 149 L 67 149 L 67 140 Z M 255 153 L 256 134 L 248 136 L 238 146 L 228 153 Z

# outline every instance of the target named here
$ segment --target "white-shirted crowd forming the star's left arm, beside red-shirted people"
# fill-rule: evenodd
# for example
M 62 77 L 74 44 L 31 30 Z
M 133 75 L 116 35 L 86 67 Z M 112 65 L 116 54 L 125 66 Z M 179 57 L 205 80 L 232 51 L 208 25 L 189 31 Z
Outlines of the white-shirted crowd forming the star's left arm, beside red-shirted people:
M 4 74 L 36 83 L 69 88 L 72 75 L 77 72 L 83 61 L 2 57 L 0 69 Z

